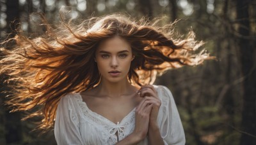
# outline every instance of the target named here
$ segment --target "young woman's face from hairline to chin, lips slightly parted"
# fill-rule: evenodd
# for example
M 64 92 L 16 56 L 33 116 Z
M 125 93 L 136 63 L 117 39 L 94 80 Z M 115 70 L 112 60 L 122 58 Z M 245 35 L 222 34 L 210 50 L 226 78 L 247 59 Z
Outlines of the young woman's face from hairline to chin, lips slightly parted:
M 127 79 L 132 59 L 131 45 L 119 36 L 102 41 L 95 53 L 102 79 L 112 83 Z

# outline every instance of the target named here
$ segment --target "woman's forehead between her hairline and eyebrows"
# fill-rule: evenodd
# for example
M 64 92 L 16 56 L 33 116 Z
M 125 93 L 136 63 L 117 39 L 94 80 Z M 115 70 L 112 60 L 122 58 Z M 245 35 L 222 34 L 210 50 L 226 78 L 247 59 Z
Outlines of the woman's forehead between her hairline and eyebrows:
M 128 50 L 129 52 L 131 52 L 131 45 L 124 38 L 120 38 L 120 36 L 115 36 L 113 38 L 105 39 L 104 41 L 100 42 L 97 48 L 97 52 L 101 50 L 113 53 L 122 50 Z

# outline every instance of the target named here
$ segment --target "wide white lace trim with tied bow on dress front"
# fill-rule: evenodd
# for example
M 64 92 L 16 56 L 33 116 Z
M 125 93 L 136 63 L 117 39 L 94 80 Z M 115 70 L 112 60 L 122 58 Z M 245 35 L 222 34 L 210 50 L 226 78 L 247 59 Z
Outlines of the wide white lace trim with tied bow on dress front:
M 102 135 L 104 135 L 104 139 L 107 140 L 108 144 L 116 144 L 118 140 L 121 141 L 134 130 L 135 108 L 132 109 L 132 111 L 127 114 L 122 121 L 115 124 L 107 118 L 104 118 L 104 116 L 90 110 L 86 105 L 86 102 L 83 101 L 80 93 L 76 93 L 74 97 L 76 98 L 76 102 L 81 107 L 84 116 L 88 118 L 88 121 L 90 121 L 92 125 L 95 125 L 95 127 L 102 131 Z M 116 137 L 116 132 L 118 137 Z

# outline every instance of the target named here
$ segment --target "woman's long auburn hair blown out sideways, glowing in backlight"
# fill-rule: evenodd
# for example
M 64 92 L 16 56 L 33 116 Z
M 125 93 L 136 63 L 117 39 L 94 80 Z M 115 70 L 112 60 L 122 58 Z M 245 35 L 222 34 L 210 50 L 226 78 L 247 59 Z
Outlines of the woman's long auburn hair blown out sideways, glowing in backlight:
M 79 25 L 61 15 L 60 24 L 49 25 L 40 16 L 45 34 L 35 38 L 17 34 L 9 39 L 16 44 L 12 49 L 1 48 L 0 74 L 8 76 L 4 82 L 12 87 L 6 104 L 12 111 L 31 110 L 25 118 L 42 116 L 37 128 L 44 130 L 53 126 L 61 97 L 99 84 L 93 57 L 104 39 L 120 36 L 131 44 L 135 58 L 127 78 L 133 85 L 153 83 L 156 75 L 167 69 L 212 59 L 205 50 L 194 54 L 203 42 L 195 41 L 193 32 L 187 38 L 175 39 L 173 24 L 159 27 L 145 18 L 135 21 L 113 14 L 89 18 Z

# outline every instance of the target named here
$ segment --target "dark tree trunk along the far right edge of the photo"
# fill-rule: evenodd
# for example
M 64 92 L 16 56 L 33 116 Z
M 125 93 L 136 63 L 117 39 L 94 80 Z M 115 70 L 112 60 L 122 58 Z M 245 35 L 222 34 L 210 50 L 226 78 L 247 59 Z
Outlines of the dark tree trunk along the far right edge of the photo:
M 249 20 L 250 0 L 237 0 L 237 20 L 238 31 L 237 46 L 241 54 L 242 72 L 245 77 L 242 131 L 246 134 L 241 135 L 241 144 L 256 144 L 256 71 L 255 71 L 255 46 L 253 39 L 250 39 L 250 20 Z

